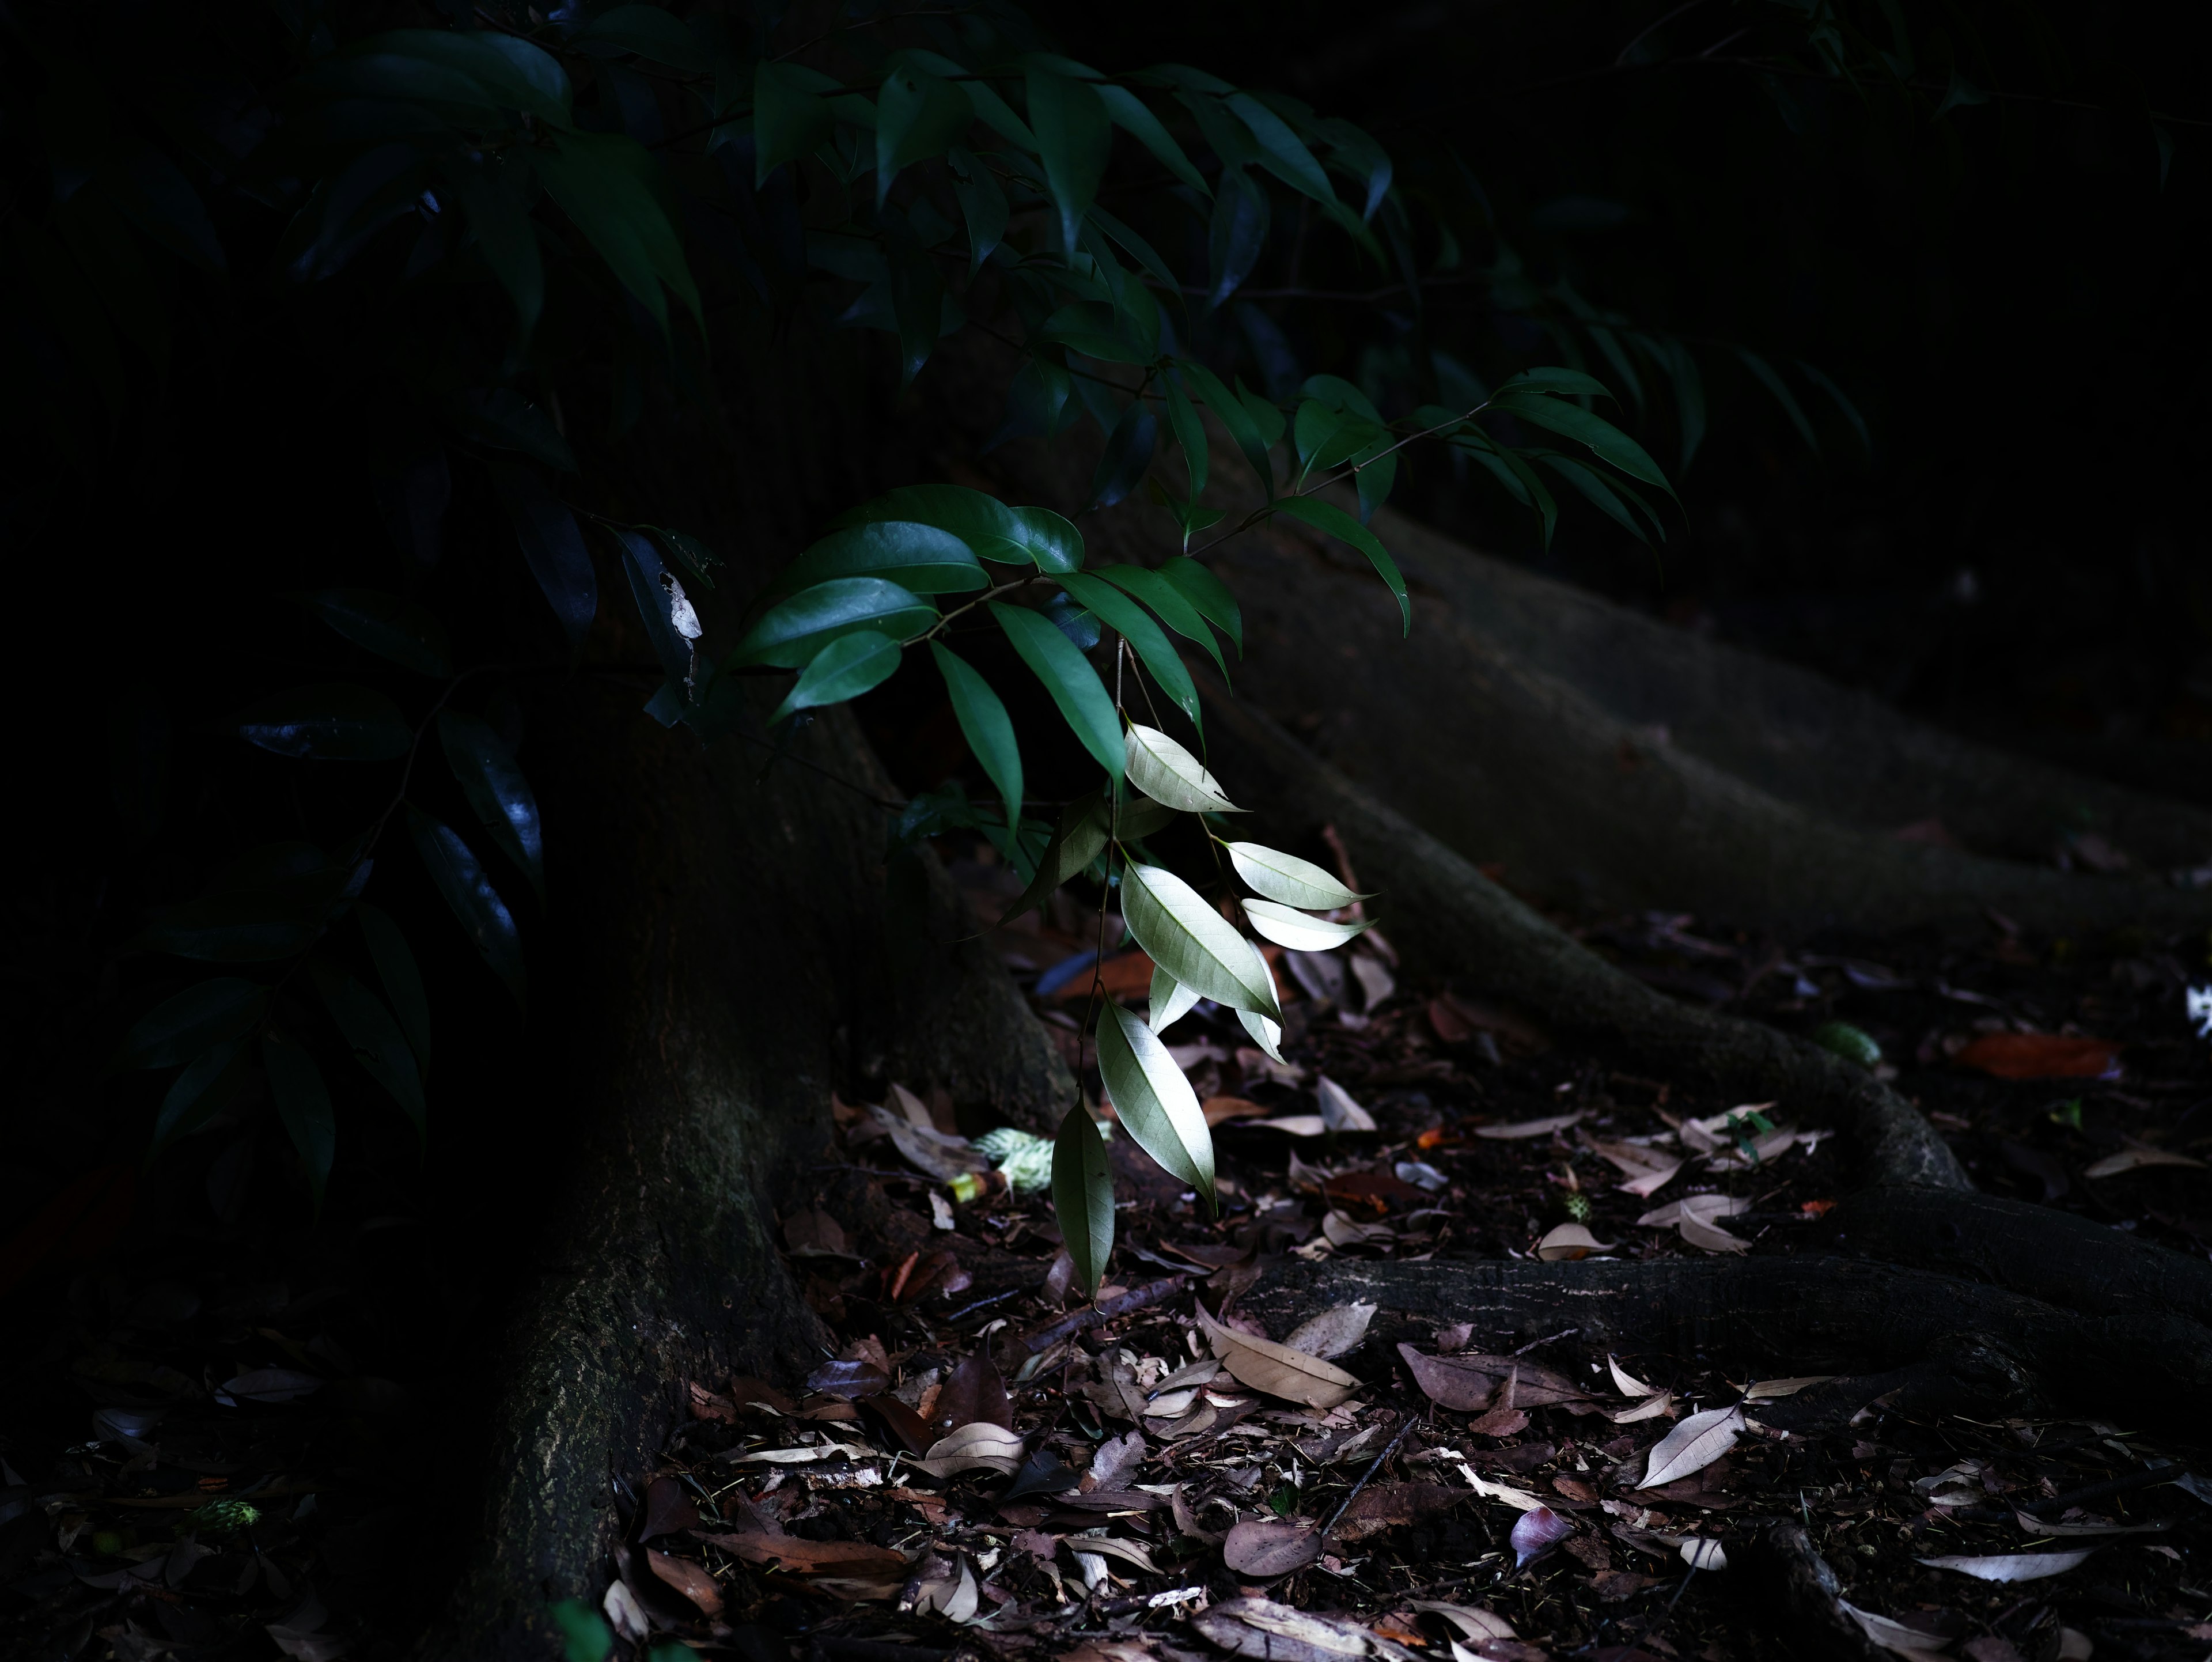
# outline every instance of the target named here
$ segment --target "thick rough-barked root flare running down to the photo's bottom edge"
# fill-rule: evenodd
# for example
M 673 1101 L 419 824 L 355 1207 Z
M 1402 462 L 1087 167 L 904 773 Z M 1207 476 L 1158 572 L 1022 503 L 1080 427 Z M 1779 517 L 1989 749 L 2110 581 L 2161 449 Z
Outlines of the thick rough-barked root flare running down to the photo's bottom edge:
M 540 794 L 577 885 L 557 952 L 564 1040 L 533 1087 L 568 1180 L 544 1197 L 484 1467 L 484 1525 L 453 1658 L 551 1655 L 546 1600 L 595 1593 L 611 1478 L 646 1469 L 684 1379 L 790 1379 L 821 1359 L 772 1230 L 827 1140 L 832 1084 L 889 1069 L 1033 1122 L 1073 1087 L 978 941 L 894 983 L 883 819 L 827 772 L 887 786 L 838 715 L 763 781 L 759 757 L 661 735 L 637 697 L 577 688 L 538 713 Z M 933 874 L 929 941 L 964 912 Z

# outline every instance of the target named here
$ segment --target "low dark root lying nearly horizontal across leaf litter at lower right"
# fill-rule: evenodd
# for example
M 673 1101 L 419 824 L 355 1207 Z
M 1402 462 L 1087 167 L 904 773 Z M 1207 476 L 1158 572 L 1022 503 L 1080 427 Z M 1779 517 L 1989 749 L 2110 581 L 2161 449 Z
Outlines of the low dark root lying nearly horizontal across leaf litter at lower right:
M 1913 1412 L 2121 1416 L 2194 1423 L 2212 1392 L 2212 1330 L 2168 1315 L 2081 1315 L 1975 1281 L 1827 1255 L 1615 1264 L 1285 1259 L 1245 1295 L 1276 1332 L 1367 1301 L 1484 1343 L 1566 1330 L 1615 1352 L 1697 1357 L 1752 1374 L 1838 1374 L 1770 1423 L 1849 1414 L 1900 1392 Z

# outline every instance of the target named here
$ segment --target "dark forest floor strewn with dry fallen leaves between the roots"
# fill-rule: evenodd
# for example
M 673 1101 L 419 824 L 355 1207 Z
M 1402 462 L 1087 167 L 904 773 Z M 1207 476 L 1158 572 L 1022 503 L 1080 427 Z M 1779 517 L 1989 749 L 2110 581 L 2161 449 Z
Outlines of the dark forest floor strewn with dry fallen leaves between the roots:
M 995 916 L 1009 876 L 975 852 L 953 874 Z M 1079 1069 L 1093 927 L 995 932 Z M 1674 996 L 1849 1025 L 1832 1042 L 1878 1045 L 1991 1193 L 2212 1250 L 2212 1047 L 2185 1009 L 2201 941 L 2035 941 L 2002 918 L 1964 941 L 1778 943 L 1683 916 L 1577 934 Z M 1102 978 L 1144 998 L 1148 967 L 1110 954 Z M 1803 1381 L 1606 1357 L 1573 1330 L 1504 1346 L 1347 1306 L 1259 1332 L 1237 1299 L 1281 1253 L 1849 1250 L 1823 1224 L 1834 1144 L 1787 1102 L 1557 1049 L 1409 985 L 1374 936 L 1285 956 L 1279 980 L 1283 1062 L 1206 1007 L 1170 1029 L 1223 1211 L 1113 1135 L 1097 1306 L 1066 1290 L 1042 1191 L 956 1202 L 951 1180 L 989 1171 L 987 1124 L 896 1080 L 841 1102 L 816 1193 L 779 1219 L 836 1354 L 805 1381 L 670 1381 L 692 1421 L 617 1483 L 619 1578 L 591 1622 L 637 1653 L 745 1662 L 1750 1662 L 1796 1647 L 1759 1616 L 1741 1547 L 1796 1520 L 1902 1655 L 2212 1653 L 2212 1432 L 1876 1403 L 1796 1434 L 1761 1405 Z M 257 1230 L 215 1155 L 206 1215 L 173 1206 L 108 1268 L 18 1299 L 0 1651 L 323 1662 L 420 1631 L 465 1507 L 438 1469 L 471 1423 L 449 1403 L 478 1370 L 453 1266 L 394 1250 L 427 1230 L 389 1171 L 316 1226 Z

